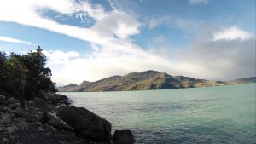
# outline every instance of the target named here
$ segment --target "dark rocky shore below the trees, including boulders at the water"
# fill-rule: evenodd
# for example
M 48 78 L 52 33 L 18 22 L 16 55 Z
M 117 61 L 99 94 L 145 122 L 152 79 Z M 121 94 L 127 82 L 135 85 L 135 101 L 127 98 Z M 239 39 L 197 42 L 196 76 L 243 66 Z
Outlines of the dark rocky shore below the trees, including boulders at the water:
M 129 144 L 131 130 L 116 130 L 111 123 L 84 107 L 70 106 L 65 95 L 42 93 L 26 108 L 20 101 L 0 95 L 0 143 L 8 144 Z

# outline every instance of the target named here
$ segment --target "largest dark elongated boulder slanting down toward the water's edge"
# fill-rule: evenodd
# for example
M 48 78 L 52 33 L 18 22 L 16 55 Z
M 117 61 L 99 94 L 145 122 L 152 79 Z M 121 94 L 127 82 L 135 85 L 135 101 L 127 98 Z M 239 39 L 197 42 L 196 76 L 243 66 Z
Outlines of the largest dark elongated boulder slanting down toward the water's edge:
M 111 124 L 84 107 L 60 106 L 59 117 L 67 124 L 98 141 L 108 141 L 111 135 Z

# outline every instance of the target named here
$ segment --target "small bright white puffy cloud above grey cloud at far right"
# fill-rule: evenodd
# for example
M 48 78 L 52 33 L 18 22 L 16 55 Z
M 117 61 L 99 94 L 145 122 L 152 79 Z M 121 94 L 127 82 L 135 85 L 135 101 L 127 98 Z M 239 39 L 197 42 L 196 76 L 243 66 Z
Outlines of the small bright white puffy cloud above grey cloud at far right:
M 219 40 L 248 40 L 252 39 L 253 35 L 249 32 L 245 32 L 241 29 L 239 29 L 237 26 L 230 26 L 228 28 L 225 28 L 224 30 L 220 32 L 216 32 L 213 34 L 213 41 L 219 41 Z

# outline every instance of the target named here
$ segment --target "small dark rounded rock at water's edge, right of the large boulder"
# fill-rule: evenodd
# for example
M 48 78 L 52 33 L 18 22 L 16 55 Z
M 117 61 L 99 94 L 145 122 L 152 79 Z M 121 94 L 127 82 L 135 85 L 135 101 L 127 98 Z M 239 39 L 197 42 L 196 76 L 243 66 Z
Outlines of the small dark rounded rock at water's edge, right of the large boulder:
M 115 144 L 131 144 L 135 139 L 131 130 L 115 130 L 113 134 L 113 143 Z

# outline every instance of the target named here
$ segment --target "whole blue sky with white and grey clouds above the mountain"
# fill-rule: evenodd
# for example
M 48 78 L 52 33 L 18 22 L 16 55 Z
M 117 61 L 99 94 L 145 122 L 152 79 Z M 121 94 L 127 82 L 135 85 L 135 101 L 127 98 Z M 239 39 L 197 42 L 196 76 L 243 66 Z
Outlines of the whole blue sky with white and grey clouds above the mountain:
M 57 85 L 129 72 L 255 76 L 255 0 L 0 0 L 0 51 L 40 45 Z

